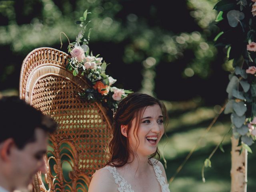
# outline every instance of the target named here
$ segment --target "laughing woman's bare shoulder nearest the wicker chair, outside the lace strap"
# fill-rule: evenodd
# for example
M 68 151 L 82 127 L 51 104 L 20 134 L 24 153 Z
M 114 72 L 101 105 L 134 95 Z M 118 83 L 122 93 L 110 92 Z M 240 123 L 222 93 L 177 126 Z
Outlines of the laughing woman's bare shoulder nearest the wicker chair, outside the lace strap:
M 88 192 L 113 192 L 116 189 L 112 173 L 106 168 L 101 168 L 92 176 Z

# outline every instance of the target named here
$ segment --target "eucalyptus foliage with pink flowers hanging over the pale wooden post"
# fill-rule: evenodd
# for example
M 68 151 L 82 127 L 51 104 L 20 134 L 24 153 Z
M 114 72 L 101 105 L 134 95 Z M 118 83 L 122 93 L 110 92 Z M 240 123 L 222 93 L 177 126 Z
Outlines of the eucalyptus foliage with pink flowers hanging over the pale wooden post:
M 255 129 L 256 114 L 256 77 L 254 76 L 256 55 L 250 48 L 256 36 L 252 1 L 222 0 L 214 6 L 214 9 L 219 12 L 219 19 L 216 21 L 222 31 L 215 38 L 216 45 L 228 48 L 227 57 L 230 60 L 234 59 L 235 68 L 226 89 L 229 102 L 225 113 L 232 113 L 231 122 L 235 126 L 233 134 L 236 138 L 240 138 L 243 148 L 251 152 L 248 146 L 255 140 L 252 132 Z M 249 66 L 253 67 L 249 68 Z

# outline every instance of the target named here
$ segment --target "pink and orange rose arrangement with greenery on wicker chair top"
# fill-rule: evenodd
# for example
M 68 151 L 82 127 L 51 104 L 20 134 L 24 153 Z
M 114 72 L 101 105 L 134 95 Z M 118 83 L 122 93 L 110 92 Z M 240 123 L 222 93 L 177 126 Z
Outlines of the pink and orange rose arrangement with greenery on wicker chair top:
M 91 88 L 87 88 L 85 92 L 79 93 L 82 98 L 86 98 L 86 100 L 91 102 L 100 101 L 109 110 L 115 110 L 118 102 L 132 93 L 132 91 L 112 86 L 116 82 L 116 79 L 105 73 L 108 64 L 103 61 L 102 57 L 99 57 L 99 55 L 94 56 L 92 51 L 90 52 L 88 44 L 91 28 L 88 31 L 87 39 L 84 37 L 86 27 L 90 22 L 86 23 L 87 14 L 89 13 L 86 10 L 83 16 L 80 17 L 80 20 L 76 22 L 81 28 L 81 31 L 76 37 L 76 42 L 70 43 L 68 40 L 68 52 L 71 58 L 68 59 L 66 68 L 72 71 L 74 76 L 78 74 L 84 76 L 90 84 Z M 64 35 L 66 36 L 66 34 Z

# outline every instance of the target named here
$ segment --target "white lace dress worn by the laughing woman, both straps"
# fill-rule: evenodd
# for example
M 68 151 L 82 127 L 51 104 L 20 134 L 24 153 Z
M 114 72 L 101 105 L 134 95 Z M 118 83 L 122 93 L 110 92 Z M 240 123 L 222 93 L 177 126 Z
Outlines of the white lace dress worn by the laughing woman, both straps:
M 160 167 L 158 165 L 153 165 L 153 167 L 162 192 L 170 192 L 169 184 L 165 182 L 165 178 L 162 176 L 162 170 Z M 117 172 L 116 167 L 106 166 L 104 169 L 109 170 L 113 174 L 115 182 L 118 185 L 119 192 L 134 192 L 134 190 L 132 190 L 132 186 L 128 184 L 127 181 Z

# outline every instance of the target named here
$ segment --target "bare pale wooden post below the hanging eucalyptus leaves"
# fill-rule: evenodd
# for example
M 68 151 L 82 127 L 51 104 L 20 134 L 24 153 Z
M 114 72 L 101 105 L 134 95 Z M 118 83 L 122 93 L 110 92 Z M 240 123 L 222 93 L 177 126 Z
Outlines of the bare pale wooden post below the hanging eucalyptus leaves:
M 247 189 L 247 150 L 239 155 L 241 146 L 238 147 L 238 139 L 231 138 L 231 191 L 246 192 Z

